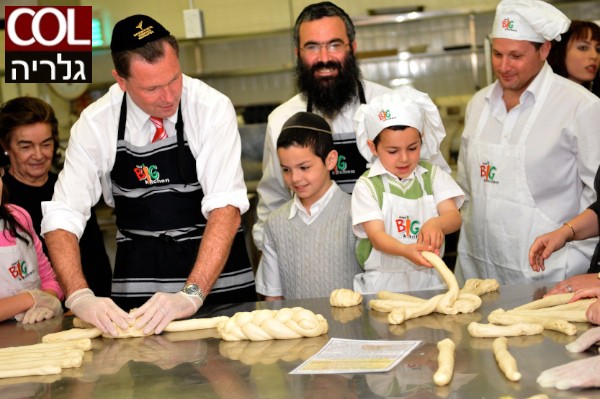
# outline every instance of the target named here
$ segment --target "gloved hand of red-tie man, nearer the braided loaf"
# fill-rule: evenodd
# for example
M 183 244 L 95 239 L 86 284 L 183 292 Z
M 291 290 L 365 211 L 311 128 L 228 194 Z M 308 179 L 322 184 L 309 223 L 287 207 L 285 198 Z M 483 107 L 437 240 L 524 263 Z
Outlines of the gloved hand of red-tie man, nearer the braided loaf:
M 144 329 L 144 334 L 160 334 L 172 320 L 193 316 L 202 306 L 202 299 L 183 292 L 169 294 L 157 292 L 138 309 L 131 311 L 137 319 L 135 327 Z

